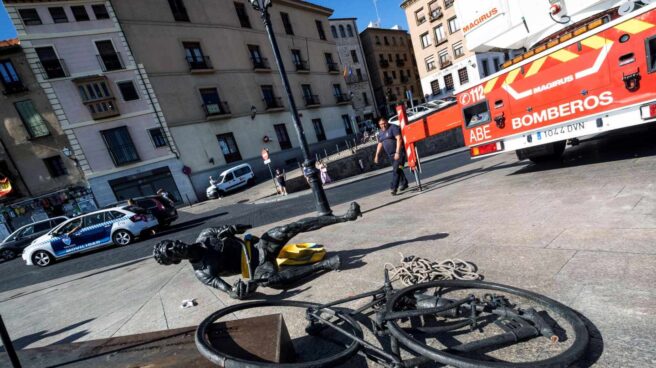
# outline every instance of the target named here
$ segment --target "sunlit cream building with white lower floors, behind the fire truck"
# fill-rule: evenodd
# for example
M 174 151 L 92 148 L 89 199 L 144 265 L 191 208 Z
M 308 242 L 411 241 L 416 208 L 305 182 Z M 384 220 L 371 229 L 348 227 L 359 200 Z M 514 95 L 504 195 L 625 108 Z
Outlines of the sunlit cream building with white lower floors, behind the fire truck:
M 474 53 L 467 49 L 455 12 L 455 0 L 405 0 L 421 89 L 428 98 L 443 98 L 496 73 L 513 57 L 510 51 Z

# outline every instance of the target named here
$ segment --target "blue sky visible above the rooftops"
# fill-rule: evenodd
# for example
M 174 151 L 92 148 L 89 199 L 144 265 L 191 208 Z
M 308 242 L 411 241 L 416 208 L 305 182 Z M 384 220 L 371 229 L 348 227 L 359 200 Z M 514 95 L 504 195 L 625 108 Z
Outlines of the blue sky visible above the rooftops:
M 378 4 L 380 14 L 380 25 L 382 28 L 390 28 L 394 25 L 408 29 L 405 13 L 399 6 L 401 0 L 375 0 Z M 333 18 L 358 18 L 358 30 L 362 32 L 369 22 L 376 21 L 376 9 L 374 0 L 311 0 L 310 2 L 335 10 Z M 16 37 L 16 31 L 7 17 L 4 2 L 0 0 L 0 40 Z

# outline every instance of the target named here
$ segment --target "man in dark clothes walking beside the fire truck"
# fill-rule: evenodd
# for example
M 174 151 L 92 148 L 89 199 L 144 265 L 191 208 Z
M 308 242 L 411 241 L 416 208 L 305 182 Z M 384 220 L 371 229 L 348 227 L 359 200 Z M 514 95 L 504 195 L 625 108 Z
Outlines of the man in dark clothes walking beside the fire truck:
M 403 149 L 403 140 L 401 138 L 401 129 L 396 125 L 390 125 L 385 118 L 378 121 L 380 132 L 376 137 L 378 146 L 376 147 L 376 155 L 374 156 L 374 163 L 378 163 L 378 156 L 381 150 L 390 157 L 392 162 L 392 182 L 390 183 L 390 190 L 392 195 L 396 195 L 397 190 L 404 191 L 408 188 L 408 179 L 403 173 L 403 165 L 405 164 L 405 152 Z

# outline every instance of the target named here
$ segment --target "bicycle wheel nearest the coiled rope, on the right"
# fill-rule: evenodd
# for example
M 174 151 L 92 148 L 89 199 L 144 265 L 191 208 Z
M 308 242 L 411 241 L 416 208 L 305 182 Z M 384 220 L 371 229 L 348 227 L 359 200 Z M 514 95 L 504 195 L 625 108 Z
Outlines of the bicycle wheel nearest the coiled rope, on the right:
M 448 280 L 448 281 L 432 281 L 424 284 L 412 285 L 404 289 L 399 290 L 392 297 L 387 300 L 386 310 L 387 313 L 390 312 L 399 312 L 403 305 L 403 301 L 408 300 L 407 298 L 413 298 L 416 295 L 416 292 L 421 292 L 422 290 L 437 289 L 437 293 L 444 297 L 444 295 L 451 295 L 450 293 L 461 294 L 472 294 L 472 290 L 492 290 L 495 292 L 502 293 L 503 296 L 512 297 L 514 299 L 521 300 L 523 303 L 528 303 L 530 305 L 538 305 L 544 308 L 544 311 L 548 314 L 549 318 L 556 322 L 562 331 L 566 331 L 566 340 L 568 346 L 562 351 L 549 351 L 555 349 L 557 345 L 549 339 L 541 338 L 541 341 L 537 341 L 538 338 L 527 340 L 526 344 L 534 344 L 529 348 L 522 347 L 502 347 L 501 350 L 495 350 L 493 353 L 497 353 L 497 356 L 490 356 L 488 353 L 490 351 L 485 351 L 483 353 L 471 351 L 471 352 L 457 352 L 458 346 L 454 342 L 459 342 L 455 337 L 464 339 L 462 328 L 466 323 L 458 325 L 458 323 L 453 324 L 454 329 L 451 329 L 451 334 L 447 337 L 440 336 L 439 339 L 425 339 L 424 341 L 419 341 L 416 336 L 413 336 L 412 329 L 403 328 L 400 326 L 400 320 L 388 320 L 387 327 L 389 328 L 390 333 L 399 340 L 399 343 L 409 350 L 422 355 L 426 358 L 429 358 L 435 362 L 442 364 L 448 364 L 455 367 L 463 368 L 474 368 L 474 367 L 489 367 L 489 368 L 529 368 L 529 367 L 564 367 L 572 364 L 577 359 L 579 359 L 585 349 L 587 348 L 589 342 L 588 330 L 583 323 L 583 321 L 578 317 L 578 315 L 569 307 L 550 299 L 546 296 L 536 294 L 527 290 L 518 289 L 515 287 L 484 282 L 484 281 L 461 281 L 461 280 Z M 441 291 L 444 293 L 441 294 Z M 491 295 L 491 294 L 488 294 Z M 496 294 L 495 294 L 496 295 Z M 507 299 L 509 300 L 509 299 Z M 396 308 L 396 309 L 395 309 Z M 553 314 L 553 315 L 552 315 Z M 443 314 L 444 315 L 444 314 Z M 494 316 L 493 316 L 494 317 Z M 465 318 L 466 321 L 466 318 Z M 441 321 L 440 321 L 441 322 Z M 560 326 L 560 324 L 567 326 Z M 496 328 L 494 323 L 488 322 L 486 328 L 490 327 L 491 329 Z M 456 329 L 460 328 L 456 332 Z M 426 330 L 429 330 L 428 328 Z M 434 330 L 448 330 L 448 326 L 434 328 Z M 410 332 L 409 332 L 410 331 Z M 481 334 L 483 331 L 479 331 Z M 420 336 L 421 334 L 415 333 L 414 335 Z M 420 336 L 421 337 L 421 336 Z M 485 338 L 485 337 L 484 337 Z M 492 336 L 488 339 L 494 339 Z M 534 341 L 536 340 L 536 341 Z M 572 340 L 572 341 L 569 341 Z M 480 340 L 478 340 L 480 341 Z M 544 342 L 544 343 L 543 343 Z M 474 344 L 476 341 L 474 341 Z M 465 342 L 462 343 L 464 346 Z M 541 344 L 538 345 L 538 344 Z M 551 345 L 549 345 L 551 344 Z M 436 345 L 441 345 L 437 347 Z M 519 345 L 519 344 L 513 344 Z M 470 342 L 470 345 L 471 342 Z M 537 347 L 536 347 L 537 346 Z M 503 349 L 509 349 L 509 351 L 503 351 Z M 540 349 L 543 349 L 542 351 Z M 462 349 L 465 350 L 465 349 Z M 527 360 L 522 358 L 517 358 L 517 355 L 525 353 L 530 355 L 530 359 L 533 359 L 534 356 L 538 356 L 537 360 Z M 543 358 L 541 355 L 548 355 L 547 358 Z M 513 361 L 509 361 L 508 357 L 515 358 Z

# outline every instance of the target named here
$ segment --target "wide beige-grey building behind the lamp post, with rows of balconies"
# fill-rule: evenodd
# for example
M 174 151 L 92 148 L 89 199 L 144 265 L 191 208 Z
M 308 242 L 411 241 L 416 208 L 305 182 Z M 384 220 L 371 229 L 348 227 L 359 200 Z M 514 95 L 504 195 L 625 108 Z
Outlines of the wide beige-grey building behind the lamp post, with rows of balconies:
M 286 92 L 259 13 L 245 0 L 115 0 L 123 30 L 145 65 L 194 187 L 248 162 L 257 175 L 301 156 Z M 332 10 L 298 0 L 269 8 L 282 62 L 310 148 L 353 134 Z

